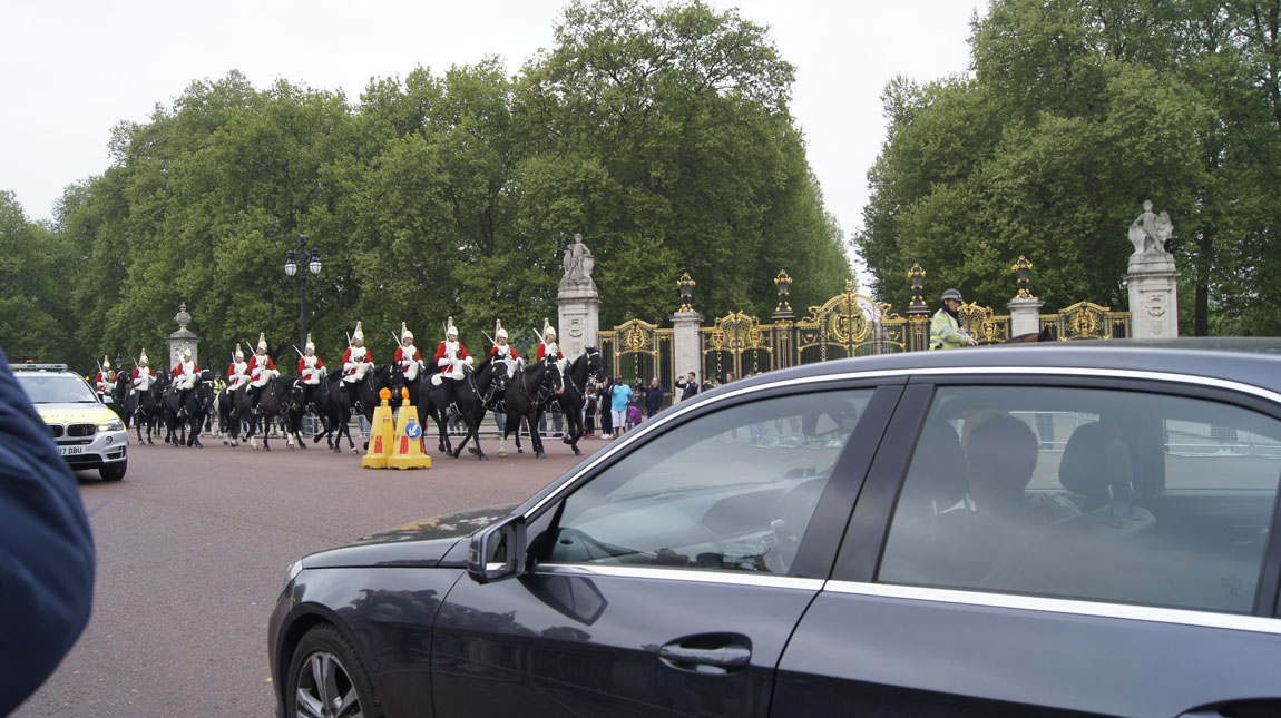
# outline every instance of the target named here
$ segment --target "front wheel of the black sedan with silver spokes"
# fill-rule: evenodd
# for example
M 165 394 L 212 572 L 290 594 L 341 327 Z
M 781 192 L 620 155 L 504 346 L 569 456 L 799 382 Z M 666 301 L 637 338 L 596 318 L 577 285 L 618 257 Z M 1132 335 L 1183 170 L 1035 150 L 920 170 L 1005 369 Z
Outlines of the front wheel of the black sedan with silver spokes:
M 302 636 L 290 662 L 288 718 L 380 718 L 382 710 L 355 649 L 333 626 Z

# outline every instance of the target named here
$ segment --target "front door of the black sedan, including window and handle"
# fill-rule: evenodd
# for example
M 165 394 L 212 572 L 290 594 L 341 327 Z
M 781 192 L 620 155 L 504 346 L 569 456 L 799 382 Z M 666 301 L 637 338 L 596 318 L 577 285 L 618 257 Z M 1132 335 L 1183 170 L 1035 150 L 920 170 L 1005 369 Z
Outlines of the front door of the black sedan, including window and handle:
M 530 572 L 446 598 L 436 714 L 766 715 L 899 392 L 673 410 L 588 467 L 532 509 Z

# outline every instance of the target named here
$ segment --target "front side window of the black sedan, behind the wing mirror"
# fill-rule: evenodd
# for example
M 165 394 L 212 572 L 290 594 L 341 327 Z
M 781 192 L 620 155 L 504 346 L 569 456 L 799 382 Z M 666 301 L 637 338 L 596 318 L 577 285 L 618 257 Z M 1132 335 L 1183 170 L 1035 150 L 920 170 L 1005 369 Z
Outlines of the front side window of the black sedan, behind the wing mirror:
M 547 561 L 787 573 L 871 394 L 760 399 L 665 431 L 565 500 Z

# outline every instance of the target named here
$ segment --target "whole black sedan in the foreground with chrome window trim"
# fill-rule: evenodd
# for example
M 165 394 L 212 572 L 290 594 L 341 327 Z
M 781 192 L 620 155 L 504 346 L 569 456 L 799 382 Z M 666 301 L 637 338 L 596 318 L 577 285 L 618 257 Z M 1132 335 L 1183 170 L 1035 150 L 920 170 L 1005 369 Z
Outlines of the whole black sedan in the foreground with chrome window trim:
M 295 715 L 1281 714 L 1281 340 L 833 361 L 304 558 Z

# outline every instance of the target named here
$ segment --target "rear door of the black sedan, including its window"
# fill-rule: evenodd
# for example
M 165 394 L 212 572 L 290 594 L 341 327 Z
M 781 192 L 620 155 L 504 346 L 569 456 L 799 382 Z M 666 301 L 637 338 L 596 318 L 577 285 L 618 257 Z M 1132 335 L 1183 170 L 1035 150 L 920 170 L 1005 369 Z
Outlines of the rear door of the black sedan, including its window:
M 1070 374 L 908 387 L 772 714 L 1281 713 L 1278 397 Z

